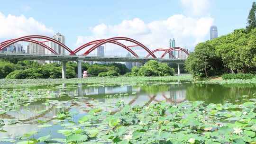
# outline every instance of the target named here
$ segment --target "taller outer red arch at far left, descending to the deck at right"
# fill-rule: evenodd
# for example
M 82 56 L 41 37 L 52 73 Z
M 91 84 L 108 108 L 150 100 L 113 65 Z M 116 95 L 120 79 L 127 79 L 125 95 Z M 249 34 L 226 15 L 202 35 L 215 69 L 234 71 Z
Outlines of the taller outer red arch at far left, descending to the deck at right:
M 9 41 L 5 41 L 5 43 L 3 45 L 0 46 L 0 50 L 3 50 L 5 47 L 9 46 L 9 45 L 12 45 L 14 43 L 17 43 L 19 41 L 23 41 L 23 40 L 28 40 L 28 39 L 31 39 L 31 38 L 40 38 L 40 39 L 45 39 L 45 40 L 49 40 L 49 41 L 52 41 L 58 45 L 61 45 L 64 49 L 66 49 L 71 55 L 74 55 L 73 51 L 68 48 L 66 45 L 60 43 L 59 41 L 56 41 L 55 39 L 53 38 L 50 38 L 50 37 L 47 37 L 47 36 L 39 36 L 39 35 L 32 35 L 32 36 L 23 36 L 23 37 L 19 37 L 17 39 L 12 39 L 12 40 L 9 40 Z M 41 43 L 42 44 L 42 43 Z M 44 44 L 42 44 L 44 45 Z M 51 51 L 51 50 L 50 50 Z

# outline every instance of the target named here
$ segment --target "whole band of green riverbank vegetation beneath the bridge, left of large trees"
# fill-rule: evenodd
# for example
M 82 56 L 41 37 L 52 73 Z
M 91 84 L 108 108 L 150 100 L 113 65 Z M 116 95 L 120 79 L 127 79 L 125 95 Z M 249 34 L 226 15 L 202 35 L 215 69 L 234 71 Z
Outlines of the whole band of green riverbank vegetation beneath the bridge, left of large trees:
M 89 64 L 82 63 L 82 71 L 89 76 L 169 76 L 174 75 L 174 68 L 167 63 L 149 61 L 140 68 L 134 67 L 132 72 L 122 63 Z M 60 63 L 39 64 L 35 61 L 0 61 L 0 79 L 59 79 L 62 77 Z M 66 77 L 77 77 L 77 63 L 66 63 Z

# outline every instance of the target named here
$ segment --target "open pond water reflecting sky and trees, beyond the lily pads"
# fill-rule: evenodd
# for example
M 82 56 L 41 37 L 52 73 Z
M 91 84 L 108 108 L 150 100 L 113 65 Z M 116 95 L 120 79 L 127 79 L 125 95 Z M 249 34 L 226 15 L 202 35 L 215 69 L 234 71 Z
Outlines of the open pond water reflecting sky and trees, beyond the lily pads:
M 61 144 L 63 143 L 62 139 L 66 137 L 61 130 L 74 126 L 81 117 L 88 115 L 91 109 L 101 108 L 104 111 L 118 111 L 116 104 L 120 100 L 130 106 L 140 107 L 161 101 L 173 105 L 184 101 L 204 101 L 207 104 L 224 104 L 225 102 L 241 104 L 243 99 L 254 98 L 256 86 L 253 84 L 192 83 L 190 81 L 157 84 L 157 81 L 151 81 L 150 84 L 138 86 L 64 83 L 1 91 L 2 94 L 13 91 L 21 92 L 18 95 L 36 91 L 35 93 L 41 93 L 44 96 L 17 106 L 17 110 L 10 109 L 0 115 L 0 119 L 4 121 L 4 126 L 0 126 L 0 144 L 17 142 L 22 144 L 27 137 L 38 139 L 46 135 L 51 135 L 52 143 Z M 71 117 L 65 117 L 67 112 L 72 114 Z M 103 144 L 109 143 L 104 140 L 92 140 L 91 143 L 96 141 Z M 49 143 L 51 142 L 49 141 Z M 23 144 L 33 144 L 33 142 Z M 44 143 L 39 142 L 39 144 Z

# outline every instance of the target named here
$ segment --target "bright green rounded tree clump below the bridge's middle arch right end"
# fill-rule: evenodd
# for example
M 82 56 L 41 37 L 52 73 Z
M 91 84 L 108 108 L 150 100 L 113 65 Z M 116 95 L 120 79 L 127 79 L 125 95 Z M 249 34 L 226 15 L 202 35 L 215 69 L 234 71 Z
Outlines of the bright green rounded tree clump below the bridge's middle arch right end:
M 170 68 L 167 63 L 148 61 L 140 68 L 133 67 L 127 76 L 169 76 L 174 75 L 174 68 Z

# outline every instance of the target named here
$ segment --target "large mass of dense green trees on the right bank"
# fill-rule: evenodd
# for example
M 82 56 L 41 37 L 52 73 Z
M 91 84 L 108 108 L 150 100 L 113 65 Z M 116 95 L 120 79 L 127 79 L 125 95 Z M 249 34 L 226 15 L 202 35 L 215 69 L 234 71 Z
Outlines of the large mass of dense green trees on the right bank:
M 250 32 L 238 29 L 229 35 L 198 44 L 186 60 L 185 68 L 199 77 L 255 73 L 256 29 Z

